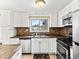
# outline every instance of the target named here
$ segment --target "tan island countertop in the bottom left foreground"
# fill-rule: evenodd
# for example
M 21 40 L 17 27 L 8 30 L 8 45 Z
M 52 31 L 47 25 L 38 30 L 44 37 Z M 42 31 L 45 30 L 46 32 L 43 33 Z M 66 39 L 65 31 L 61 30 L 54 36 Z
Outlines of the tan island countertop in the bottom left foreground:
M 19 47 L 20 44 L 0 45 L 0 59 L 10 59 Z

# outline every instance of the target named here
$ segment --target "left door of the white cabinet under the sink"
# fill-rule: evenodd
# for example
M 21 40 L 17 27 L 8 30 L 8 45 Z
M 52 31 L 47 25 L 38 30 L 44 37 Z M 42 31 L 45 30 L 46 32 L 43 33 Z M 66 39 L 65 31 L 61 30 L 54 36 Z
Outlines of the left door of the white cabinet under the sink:
M 38 38 L 32 38 L 32 54 L 39 53 L 39 49 Z

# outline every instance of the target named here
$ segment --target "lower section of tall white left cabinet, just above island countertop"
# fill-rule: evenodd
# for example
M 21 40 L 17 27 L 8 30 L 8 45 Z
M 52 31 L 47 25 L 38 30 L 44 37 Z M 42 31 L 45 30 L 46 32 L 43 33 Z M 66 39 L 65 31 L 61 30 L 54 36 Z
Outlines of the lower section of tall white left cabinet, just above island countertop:
M 2 43 L 8 43 L 11 39 L 10 37 L 14 36 L 14 28 L 12 27 L 1 27 L 1 40 Z

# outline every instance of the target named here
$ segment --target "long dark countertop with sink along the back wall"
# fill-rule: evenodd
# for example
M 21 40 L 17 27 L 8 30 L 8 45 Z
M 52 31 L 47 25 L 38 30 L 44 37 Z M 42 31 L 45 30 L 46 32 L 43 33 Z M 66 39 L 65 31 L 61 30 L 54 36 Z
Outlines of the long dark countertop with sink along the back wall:
M 31 38 L 68 38 L 68 36 L 14 36 L 11 38 L 31 39 Z

